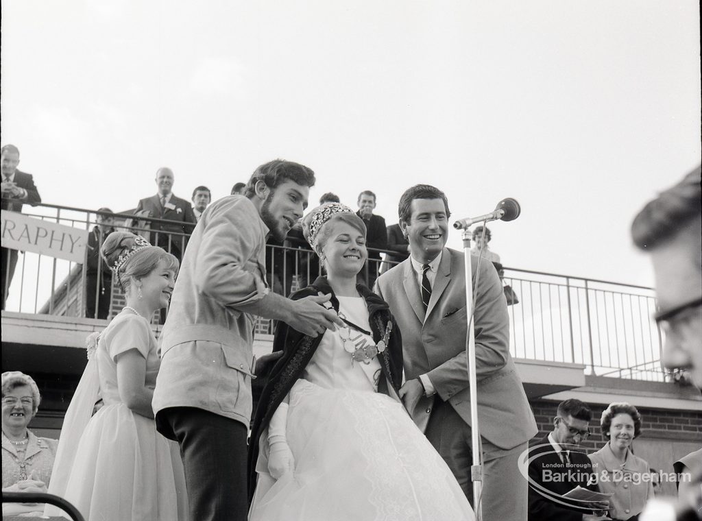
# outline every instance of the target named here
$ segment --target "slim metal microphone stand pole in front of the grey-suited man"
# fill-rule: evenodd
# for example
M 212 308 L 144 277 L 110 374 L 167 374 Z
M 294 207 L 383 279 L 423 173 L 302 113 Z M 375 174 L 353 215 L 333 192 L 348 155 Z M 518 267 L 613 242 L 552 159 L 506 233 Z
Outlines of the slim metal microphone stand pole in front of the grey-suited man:
M 475 374 L 475 329 L 473 328 L 473 273 L 470 263 L 470 230 L 463 228 L 463 256 L 465 258 L 465 320 L 468 334 L 465 338 L 465 352 L 468 357 L 468 383 L 470 391 L 470 437 L 472 447 L 472 466 L 470 479 L 473 482 L 473 509 L 475 519 L 482 520 L 480 494 L 482 492 L 482 466 L 480 464 L 480 430 L 478 428 L 478 395 L 476 389 L 477 376 Z

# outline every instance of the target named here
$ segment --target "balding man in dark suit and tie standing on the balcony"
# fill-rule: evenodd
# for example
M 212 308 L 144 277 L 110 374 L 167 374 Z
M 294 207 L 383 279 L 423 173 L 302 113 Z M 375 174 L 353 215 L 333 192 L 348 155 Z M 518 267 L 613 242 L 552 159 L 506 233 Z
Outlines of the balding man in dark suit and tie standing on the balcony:
M 158 193 L 152 197 L 141 199 L 136 207 L 135 215 L 177 221 L 177 223 L 151 223 L 151 242 L 173 253 L 181 260 L 187 244 L 187 236 L 192 233 L 197 219 L 192 213 L 190 202 L 180 199 L 173 194 L 173 171 L 165 166 L 156 172 Z

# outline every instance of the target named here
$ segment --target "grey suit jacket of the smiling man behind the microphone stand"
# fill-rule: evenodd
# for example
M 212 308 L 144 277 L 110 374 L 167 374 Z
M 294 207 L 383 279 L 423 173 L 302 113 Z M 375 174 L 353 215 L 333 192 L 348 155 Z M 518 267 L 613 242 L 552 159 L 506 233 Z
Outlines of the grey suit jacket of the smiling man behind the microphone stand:
M 474 270 L 476 265 L 474 256 Z M 474 271 L 473 284 L 475 278 Z M 380 275 L 376 293 L 390 304 L 402 331 L 406 379 L 428 374 L 439 398 L 470 425 L 463 253 L 444 248 L 426 319 L 411 258 Z M 536 435 L 536 422 L 510 356 L 505 294 L 494 266 L 484 260 L 474 319 L 480 433 L 497 447 L 512 449 Z M 413 419 L 420 428 L 429 420 L 432 402 L 433 397 L 423 397 L 414 409 Z

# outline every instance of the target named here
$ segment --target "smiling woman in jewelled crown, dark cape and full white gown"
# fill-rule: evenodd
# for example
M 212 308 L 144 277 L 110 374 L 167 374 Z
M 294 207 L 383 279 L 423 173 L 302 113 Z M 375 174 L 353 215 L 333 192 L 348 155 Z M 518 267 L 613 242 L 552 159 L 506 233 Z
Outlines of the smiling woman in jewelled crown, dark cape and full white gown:
M 280 323 L 283 355 L 251 433 L 256 520 L 472 520 L 458 482 L 399 401 L 402 341 L 388 304 L 356 275 L 366 227 L 347 206 L 303 221 L 326 277 L 291 298 L 331 294 L 344 327 L 312 338 Z

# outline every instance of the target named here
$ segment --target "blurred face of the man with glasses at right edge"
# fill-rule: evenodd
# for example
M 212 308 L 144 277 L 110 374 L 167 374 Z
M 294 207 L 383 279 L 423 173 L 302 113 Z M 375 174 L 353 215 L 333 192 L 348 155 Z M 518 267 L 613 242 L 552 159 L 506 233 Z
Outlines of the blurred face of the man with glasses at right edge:
M 699 222 L 686 232 L 651 251 L 656 276 L 656 296 L 661 313 L 676 310 L 661 321 L 665 334 L 663 364 L 668 369 L 687 369 L 702 388 L 702 267 L 699 263 Z M 690 305 L 686 305 L 690 304 Z

